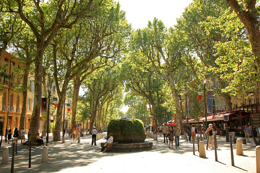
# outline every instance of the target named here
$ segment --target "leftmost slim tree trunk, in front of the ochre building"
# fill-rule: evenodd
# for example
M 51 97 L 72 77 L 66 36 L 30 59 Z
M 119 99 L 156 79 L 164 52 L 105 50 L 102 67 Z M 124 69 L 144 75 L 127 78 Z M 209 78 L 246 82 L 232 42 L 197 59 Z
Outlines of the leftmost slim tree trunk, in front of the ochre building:
M 24 128 L 24 122 L 25 122 L 29 67 L 30 67 L 30 63 L 28 63 L 28 61 L 27 61 L 25 64 L 25 70 L 24 70 L 24 74 L 23 74 L 22 108 L 21 108 L 21 117 L 20 117 L 20 123 L 19 123 L 19 132 Z

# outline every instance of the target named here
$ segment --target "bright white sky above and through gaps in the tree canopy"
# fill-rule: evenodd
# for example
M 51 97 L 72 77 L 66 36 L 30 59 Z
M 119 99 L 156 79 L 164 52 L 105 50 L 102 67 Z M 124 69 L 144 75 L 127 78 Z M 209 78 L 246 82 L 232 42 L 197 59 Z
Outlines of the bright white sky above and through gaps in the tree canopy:
M 162 20 L 164 25 L 169 28 L 176 24 L 185 7 L 188 7 L 193 0 L 115 0 L 120 3 L 121 10 L 125 11 L 128 23 L 132 24 L 133 29 L 145 28 L 148 21 L 154 17 Z M 80 89 L 79 95 L 84 91 Z M 123 106 L 121 111 L 126 112 L 128 106 Z

